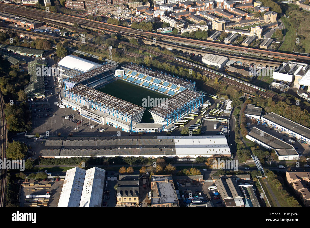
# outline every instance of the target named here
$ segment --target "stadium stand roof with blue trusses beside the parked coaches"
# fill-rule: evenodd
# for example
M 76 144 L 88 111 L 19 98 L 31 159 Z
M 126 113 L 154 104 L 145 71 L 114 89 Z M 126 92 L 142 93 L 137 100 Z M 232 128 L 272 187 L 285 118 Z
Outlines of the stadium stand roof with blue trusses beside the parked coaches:
M 197 103 L 196 101 L 199 102 L 199 100 L 203 99 L 203 97 L 204 95 L 197 91 L 186 89 L 183 92 L 170 97 L 162 104 L 149 109 L 149 112 L 154 113 L 162 118 L 170 118 L 170 114 L 179 112 L 178 110 L 183 110 L 184 107 L 193 106 L 193 104 Z

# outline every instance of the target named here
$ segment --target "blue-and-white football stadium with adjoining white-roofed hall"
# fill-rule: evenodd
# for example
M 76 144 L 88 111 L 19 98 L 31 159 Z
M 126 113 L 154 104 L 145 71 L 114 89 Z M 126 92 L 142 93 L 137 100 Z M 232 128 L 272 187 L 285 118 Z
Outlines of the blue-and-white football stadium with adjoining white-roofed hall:
M 73 61 L 78 62 L 78 68 Z M 125 132 L 169 131 L 175 126 L 174 122 L 196 112 L 204 102 L 205 95 L 196 91 L 195 82 L 143 65 L 129 63 L 117 69 L 115 64 L 106 62 L 100 65 L 76 56 L 66 56 L 60 60 L 58 67 L 63 69 L 58 78 L 64 87 L 64 105 L 78 110 L 80 115 L 95 123 L 109 124 Z M 126 82 L 126 90 L 121 87 L 104 88 L 119 80 Z M 163 102 L 141 107 L 135 100 L 124 96 L 126 91 L 128 96 L 141 102 L 147 93 L 139 89 L 157 93 L 160 99 L 164 98 Z M 114 91 L 113 95 L 108 94 L 111 91 Z M 153 123 L 142 121 L 146 108 Z

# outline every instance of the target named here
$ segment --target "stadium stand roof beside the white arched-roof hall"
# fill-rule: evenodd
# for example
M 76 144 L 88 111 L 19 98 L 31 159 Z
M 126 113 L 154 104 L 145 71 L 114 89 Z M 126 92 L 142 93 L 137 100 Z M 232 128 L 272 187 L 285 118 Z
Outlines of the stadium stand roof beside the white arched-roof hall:
M 62 61 L 62 60 L 60 60 L 60 61 Z M 87 67 L 88 66 L 90 66 L 90 65 L 87 64 Z M 86 72 L 80 72 L 74 76 L 71 76 L 71 78 L 64 79 L 64 81 L 69 81 L 71 83 L 81 83 L 81 82 L 83 82 L 89 78 L 95 77 L 99 74 L 103 74 L 104 72 L 109 71 L 111 69 L 115 70 L 116 68 L 117 68 L 117 65 L 108 64 L 107 62 L 105 62 L 103 65 L 95 65 L 95 66 L 91 67 L 91 69 L 87 70 Z M 78 69 L 76 69 L 76 68 L 73 70 L 78 71 Z M 71 71 L 71 72 L 73 73 L 74 71 Z

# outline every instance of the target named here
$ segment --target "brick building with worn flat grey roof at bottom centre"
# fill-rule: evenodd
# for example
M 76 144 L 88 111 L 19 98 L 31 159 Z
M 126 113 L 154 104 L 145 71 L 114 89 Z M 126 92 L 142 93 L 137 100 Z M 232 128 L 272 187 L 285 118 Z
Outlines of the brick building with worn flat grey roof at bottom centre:
M 171 175 L 152 175 L 151 207 L 179 207 Z

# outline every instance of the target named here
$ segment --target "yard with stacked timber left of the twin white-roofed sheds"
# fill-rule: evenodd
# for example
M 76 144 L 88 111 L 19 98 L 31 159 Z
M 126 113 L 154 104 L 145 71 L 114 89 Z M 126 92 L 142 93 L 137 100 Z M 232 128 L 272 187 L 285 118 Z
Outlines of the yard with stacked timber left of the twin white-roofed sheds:
M 49 178 L 49 179 L 47 179 L 47 181 L 43 181 L 43 180 L 42 181 L 33 181 L 33 180 L 29 181 L 30 183 L 40 184 L 40 185 L 51 184 L 51 187 L 45 187 L 45 189 L 32 191 L 31 189 L 34 189 L 36 186 L 34 186 L 34 187 L 21 187 L 20 206 L 23 207 L 24 203 L 26 203 L 26 201 L 31 201 L 31 199 L 26 198 L 26 195 L 45 195 L 47 192 L 49 192 L 49 194 L 51 195 L 51 198 L 49 198 L 47 206 L 48 207 L 57 207 L 64 181 L 54 180 L 52 182 L 51 180 L 52 179 Z M 36 187 L 36 188 L 38 189 L 38 188 L 42 188 L 42 187 Z M 29 203 L 29 202 L 27 202 L 27 203 Z

